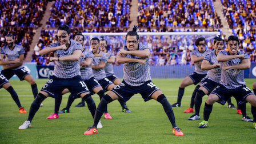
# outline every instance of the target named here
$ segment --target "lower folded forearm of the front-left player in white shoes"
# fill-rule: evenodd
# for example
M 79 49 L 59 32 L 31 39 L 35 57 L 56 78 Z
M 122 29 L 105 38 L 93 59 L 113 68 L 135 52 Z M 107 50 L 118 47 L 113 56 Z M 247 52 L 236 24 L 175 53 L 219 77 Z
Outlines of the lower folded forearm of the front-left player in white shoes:
M 50 57 L 50 61 L 78 61 L 82 55 L 82 50 L 75 50 L 73 54 L 67 55 L 65 57 Z

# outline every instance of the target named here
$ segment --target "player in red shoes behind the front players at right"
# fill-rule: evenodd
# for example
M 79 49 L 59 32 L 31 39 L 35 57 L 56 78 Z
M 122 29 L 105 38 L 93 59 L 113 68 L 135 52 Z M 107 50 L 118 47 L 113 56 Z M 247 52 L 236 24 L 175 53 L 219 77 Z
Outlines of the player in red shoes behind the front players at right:
M 177 103 L 174 103 L 173 107 L 181 107 L 181 99 L 183 97 L 184 94 L 184 90 L 186 86 L 189 85 L 197 85 L 207 74 L 207 70 L 202 70 L 201 69 L 201 63 L 203 61 L 203 58 L 205 57 L 205 55 L 207 53 L 209 53 L 211 50 L 210 49 L 206 49 L 205 47 L 205 38 L 198 38 L 195 41 L 195 45 L 197 46 L 197 50 L 194 50 L 191 53 L 191 61 L 193 61 L 193 63 L 195 64 L 195 71 L 193 74 L 187 76 L 185 79 L 183 79 L 183 81 L 181 82 L 181 84 L 179 85 L 179 91 L 178 91 L 178 99 L 177 99 Z M 197 93 L 197 90 L 199 89 L 199 87 L 202 85 L 202 83 L 199 83 L 192 94 L 192 98 L 191 98 L 191 103 L 190 105 L 192 105 L 192 107 L 189 107 L 189 109 L 186 109 L 184 111 L 184 113 L 192 113 L 193 112 L 193 107 L 194 107 L 194 98 L 195 98 L 195 93 Z

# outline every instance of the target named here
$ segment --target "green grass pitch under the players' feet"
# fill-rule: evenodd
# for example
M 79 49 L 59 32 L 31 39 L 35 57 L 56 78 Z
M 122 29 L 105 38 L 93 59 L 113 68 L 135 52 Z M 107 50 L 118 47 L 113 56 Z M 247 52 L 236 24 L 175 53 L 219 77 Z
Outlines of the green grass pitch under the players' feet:
M 38 90 L 47 79 L 37 79 Z M 177 101 L 179 83 L 182 79 L 153 79 L 171 104 Z M 246 85 L 252 89 L 255 79 L 246 79 Z M 29 112 L 33 101 L 31 87 L 26 81 L 11 79 L 11 85 L 17 91 L 22 106 Z M 122 113 L 118 101 L 111 102 L 108 110 L 113 119 L 102 117 L 102 129 L 98 134 L 83 135 L 87 127 L 93 124 L 93 118 L 87 107 L 74 107 L 81 99 L 76 99 L 69 114 L 59 114 L 58 119 L 46 119 L 54 112 L 54 99 L 43 101 L 32 121 L 30 129 L 18 130 L 27 119 L 27 114 L 18 113 L 18 107 L 5 89 L 0 89 L 0 143 L 255 143 L 256 130 L 253 122 L 242 121 L 242 115 L 236 109 L 228 109 L 215 103 L 210 115 L 209 127 L 199 129 L 198 123 L 203 119 L 203 107 L 207 96 L 203 97 L 201 106 L 201 120 L 189 121 L 192 114 L 185 114 L 183 110 L 190 105 L 194 85 L 185 88 L 182 107 L 174 107 L 174 115 L 178 127 L 184 133 L 183 137 L 176 137 L 171 133 L 171 123 L 163 107 L 154 100 L 144 102 L 141 95 L 136 94 L 127 105 L 132 111 Z M 63 96 L 61 108 L 66 106 L 68 94 Z M 98 95 L 93 95 L 98 105 Z M 235 99 L 231 99 L 236 105 Z M 247 103 L 247 115 L 251 118 L 251 106 Z

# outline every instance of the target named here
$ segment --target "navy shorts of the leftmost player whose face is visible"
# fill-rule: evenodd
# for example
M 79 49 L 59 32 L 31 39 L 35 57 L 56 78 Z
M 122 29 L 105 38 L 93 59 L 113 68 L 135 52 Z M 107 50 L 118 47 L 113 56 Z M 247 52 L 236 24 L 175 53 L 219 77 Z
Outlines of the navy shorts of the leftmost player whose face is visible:
M 23 81 L 26 75 L 30 73 L 29 71 L 26 70 L 25 67 L 22 67 L 21 69 L 18 69 L 18 70 L 11 70 L 11 69 L 2 70 L 1 74 L 5 75 L 7 79 L 10 79 L 11 77 L 13 77 L 14 74 L 16 74 L 19 77 L 19 80 Z

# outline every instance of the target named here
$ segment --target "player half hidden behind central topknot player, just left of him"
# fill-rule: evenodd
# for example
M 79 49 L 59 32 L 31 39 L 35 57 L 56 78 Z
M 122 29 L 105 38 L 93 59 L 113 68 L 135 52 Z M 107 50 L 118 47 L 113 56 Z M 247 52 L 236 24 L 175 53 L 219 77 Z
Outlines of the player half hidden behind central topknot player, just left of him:
M 105 72 L 106 72 L 107 79 L 109 79 L 115 85 L 119 85 L 121 83 L 121 81 L 117 76 L 115 76 L 114 70 L 113 70 L 113 64 L 112 64 L 112 63 L 115 62 L 115 55 L 107 50 L 107 48 L 106 48 L 107 47 L 107 40 L 106 39 L 101 39 L 99 41 L 99 46 L 101 47 L 101 51 L 103 53 L 106 53 L 107 57 L 109 58 L 109 59 L 107 59 L 107 63 L 106 63 L 106 66 L 105 66 Z M 122 106 L 123 112 L 131 113 L 131 111 L 128 109 L 125 102 L 123 102 L 121 99 L 118 99 L 118 102 Z

